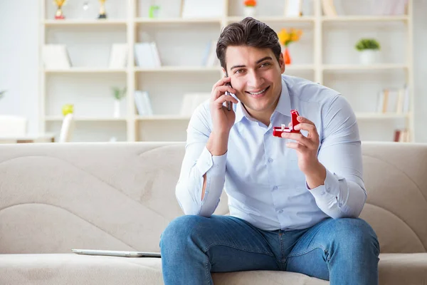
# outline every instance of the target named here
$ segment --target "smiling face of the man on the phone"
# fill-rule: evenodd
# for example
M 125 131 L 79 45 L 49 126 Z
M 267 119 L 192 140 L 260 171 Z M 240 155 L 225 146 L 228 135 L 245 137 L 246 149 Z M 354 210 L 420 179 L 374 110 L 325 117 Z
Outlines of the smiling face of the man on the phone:
M 270 118 L 282 91 L 283 56 L 278 62 L 270 48 L 228 46 L 226 66 L 236 97 L 248 113 Z

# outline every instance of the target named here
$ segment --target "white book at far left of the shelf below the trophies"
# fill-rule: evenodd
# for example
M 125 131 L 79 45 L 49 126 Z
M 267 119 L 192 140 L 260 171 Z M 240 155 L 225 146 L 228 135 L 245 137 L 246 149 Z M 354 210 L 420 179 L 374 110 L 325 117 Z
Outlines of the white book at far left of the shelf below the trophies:
M 42 59 L 47 69 L 69 69 L 70 56 L 67 47 L 62 44 L 46 44 L 43 46 Z

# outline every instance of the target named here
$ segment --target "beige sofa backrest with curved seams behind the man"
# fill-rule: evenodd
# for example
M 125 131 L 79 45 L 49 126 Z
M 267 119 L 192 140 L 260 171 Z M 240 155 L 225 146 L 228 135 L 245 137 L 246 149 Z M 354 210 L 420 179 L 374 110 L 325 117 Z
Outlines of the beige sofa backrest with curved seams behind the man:
M 427 145 L 365 142 L 362 212 L 381 252 L 426 252 Z M 183 142 L 0 145 L 0 254 L 159 251 L 182 214 Z M 223 193 L 216 214 L 227 214 Z

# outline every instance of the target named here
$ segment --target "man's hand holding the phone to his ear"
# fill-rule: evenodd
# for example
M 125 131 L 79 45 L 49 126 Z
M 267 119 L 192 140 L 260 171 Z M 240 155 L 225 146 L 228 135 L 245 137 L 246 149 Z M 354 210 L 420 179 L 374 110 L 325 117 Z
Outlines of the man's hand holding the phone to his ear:
M 236 114 L 233 109 L 230 111 L 223 105 L 224 102 L 229 101 L 237 104 L 238 100 L 231 95 L 226 95 L 226 91 L 235 94 L 236 90 L 230 86 L 226 86 L 227 83 L 230 83 L 231 78 L 224 77 L 219 80 L 214 87 L 212 88 L 211 93 L 211 117 L 213 133 L 218 133 L 222 135 L 227 135 L 230 133 L 231 127 L 234 125 L 236 120 Z

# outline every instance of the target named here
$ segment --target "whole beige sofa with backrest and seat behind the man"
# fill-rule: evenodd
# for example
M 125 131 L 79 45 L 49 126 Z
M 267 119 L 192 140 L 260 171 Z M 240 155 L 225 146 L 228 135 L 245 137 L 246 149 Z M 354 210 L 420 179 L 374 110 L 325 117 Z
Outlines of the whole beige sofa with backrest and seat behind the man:
M 427 284 L 427 145 L 362 147 L 362 218 L 379 236 L 380 284 Z M 70 249 L 159 251 L 162 230 L 182 214 L 174 187 L 183 155 L 172 142 L 0 145 L 0 284 L 162 284 L 160 259 Z M 216 214 L 227 211 L 224 196 Z M 214 281 L 329 284 L 277 271 Z

